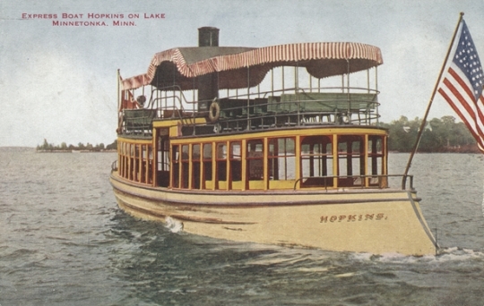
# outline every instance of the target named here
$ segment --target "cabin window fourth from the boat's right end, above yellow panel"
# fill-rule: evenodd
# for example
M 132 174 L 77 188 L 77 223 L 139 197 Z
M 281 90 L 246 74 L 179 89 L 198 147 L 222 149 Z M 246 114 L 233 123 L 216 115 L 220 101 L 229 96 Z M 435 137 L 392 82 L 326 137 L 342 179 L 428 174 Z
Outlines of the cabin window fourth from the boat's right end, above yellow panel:
M 296 153 L 294 138 L 269 140 L 269 180 L 296 179 Z

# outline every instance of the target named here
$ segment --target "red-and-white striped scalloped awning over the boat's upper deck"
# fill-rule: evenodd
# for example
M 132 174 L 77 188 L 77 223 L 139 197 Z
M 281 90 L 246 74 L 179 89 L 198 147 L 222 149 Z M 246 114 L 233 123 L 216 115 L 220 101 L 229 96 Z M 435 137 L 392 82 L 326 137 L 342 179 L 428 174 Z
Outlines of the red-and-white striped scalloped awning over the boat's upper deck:
M 179 47 L 154 55 L 148 72 L 123 81 L 123 89 L 143 85 L 197 89 L 196 78 L 218 72 L 219 89 L 253 87 L 273 67 L 306 67 L 315 78 L 359 72 L 383 64 L 378 47 L 348 42 L 300 43 L 272 47 Z

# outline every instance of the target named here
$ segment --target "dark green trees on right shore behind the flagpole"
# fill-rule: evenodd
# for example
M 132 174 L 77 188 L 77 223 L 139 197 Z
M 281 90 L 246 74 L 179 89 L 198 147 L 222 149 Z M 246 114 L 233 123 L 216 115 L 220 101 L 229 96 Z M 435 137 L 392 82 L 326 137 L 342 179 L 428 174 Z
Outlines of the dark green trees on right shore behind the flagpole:
M 411 152 L 417 140 L 422 120 L 416 117 L 409 120 L 405 116 L 391 123 L 380 123 L 389 131 L 388 149 L 398 152 Z M 425 124 L 419 143 L 419 152 L 459 152 L 479 153 L 477 142 L 464 123 L 457 123 L 454 116 L 434 118 Z

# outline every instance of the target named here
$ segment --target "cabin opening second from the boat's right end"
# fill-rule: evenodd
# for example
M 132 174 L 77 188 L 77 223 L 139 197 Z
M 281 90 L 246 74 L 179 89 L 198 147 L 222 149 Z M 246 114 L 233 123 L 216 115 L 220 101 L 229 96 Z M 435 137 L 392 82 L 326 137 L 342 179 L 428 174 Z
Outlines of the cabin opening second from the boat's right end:
M 338 137 L 338 186 L 362 185 L 365 175 L 365 140 L 363 136 Z

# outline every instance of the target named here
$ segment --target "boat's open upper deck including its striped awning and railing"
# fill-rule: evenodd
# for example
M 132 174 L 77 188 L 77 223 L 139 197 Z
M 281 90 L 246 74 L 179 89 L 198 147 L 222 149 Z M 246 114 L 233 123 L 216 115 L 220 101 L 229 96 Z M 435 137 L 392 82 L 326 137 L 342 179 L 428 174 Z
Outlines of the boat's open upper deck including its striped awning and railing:
M 211 44 L 156 54 L 147 73 L 120 81 L 118 133 L 150 136 L 165 120 L 183 136 L 378 122 L 377 47 Z

